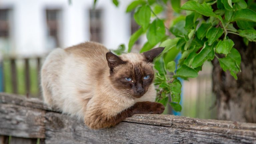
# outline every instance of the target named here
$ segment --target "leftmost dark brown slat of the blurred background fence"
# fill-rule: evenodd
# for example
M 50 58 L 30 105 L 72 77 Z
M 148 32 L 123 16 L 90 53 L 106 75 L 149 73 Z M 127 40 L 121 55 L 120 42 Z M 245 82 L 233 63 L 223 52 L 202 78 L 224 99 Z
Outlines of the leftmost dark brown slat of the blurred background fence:
M 11 58 L 10 61 L 11 61 L 12 92 L 18 93 L 16 61 L 14 58 Z

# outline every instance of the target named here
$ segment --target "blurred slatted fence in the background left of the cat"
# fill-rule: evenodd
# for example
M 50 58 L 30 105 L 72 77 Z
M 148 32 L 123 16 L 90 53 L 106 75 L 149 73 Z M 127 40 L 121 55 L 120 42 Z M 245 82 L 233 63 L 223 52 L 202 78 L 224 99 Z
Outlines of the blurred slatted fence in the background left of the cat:
M 40 69 L 42 64 L 42 57 L 29 57 L 29 58 L 14 58 L 6 57 L 3 62 L 0 63 L 3 65 L 3 80 L 0 83 L 3 83 L 3 91 L 19 94 L 19 86 L 22 86 L 22 93 L 28 97 L 39 97 L 40 90 Z M 34 62 L 31 65 L 31 62 Z M 31 76 L 31 71 L 36 74 L 35 78 Z M 22 71 L 22 72 L 21 72 Z M 7 77 L 8 76 L 8 77 Z M 1 80 L 1 79 L 0 79 Z M 8 82 L 10 81 L 10 82 Z M 31 82 L 36 81 L 36 84 Z M 7 85 L 9 89 L 7 90 Z M 37 90 L 36 92 L 31 92 L 31 87 L 34 85 Z

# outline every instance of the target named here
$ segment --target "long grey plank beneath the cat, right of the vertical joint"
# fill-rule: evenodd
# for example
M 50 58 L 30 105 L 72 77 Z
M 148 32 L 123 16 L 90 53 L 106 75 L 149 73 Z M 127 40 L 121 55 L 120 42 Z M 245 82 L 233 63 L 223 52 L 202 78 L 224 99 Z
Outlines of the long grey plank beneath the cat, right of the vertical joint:
M 143 118 L 143 115 L 132 118 L 138 116 Z M 155 116 L 151 115 L 151 118 Z M 160 123 L 166 126 L 160 126 Z M 204 125 L 199 121 L 190 124 L 190 127 L 174 126 L 173 121 L 156 122 L 156 125 L 122 122 L 113 128 L 90 130 L 76 118 L 48 112 L 45 143 L 256 143 L 255 135 L 249 135 L 252 132 L 247 133 L 247 130 L 243 131 L 247 135 L 241 135 L 241 132 L 236 134 L 237 130 L 233 129 L 230 129 L 230 133 L 223 133 L 222 130 L 218 131 L 218 125 L 212 127 L 214 131 L 206 131 L 208 126 L 195 129 L 196 124 Z

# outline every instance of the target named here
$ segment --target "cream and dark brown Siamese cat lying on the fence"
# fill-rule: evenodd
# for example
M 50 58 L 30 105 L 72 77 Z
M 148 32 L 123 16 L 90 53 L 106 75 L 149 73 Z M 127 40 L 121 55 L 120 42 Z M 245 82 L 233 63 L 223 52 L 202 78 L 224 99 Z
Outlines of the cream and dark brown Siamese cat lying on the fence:
M 82 118 L 91 129 L 111 127 L 133 114 L 161 114 L 153 60 L 163 47 L 117 56 L 86 42 L 55 49 L 41 69 L 45 103 Z

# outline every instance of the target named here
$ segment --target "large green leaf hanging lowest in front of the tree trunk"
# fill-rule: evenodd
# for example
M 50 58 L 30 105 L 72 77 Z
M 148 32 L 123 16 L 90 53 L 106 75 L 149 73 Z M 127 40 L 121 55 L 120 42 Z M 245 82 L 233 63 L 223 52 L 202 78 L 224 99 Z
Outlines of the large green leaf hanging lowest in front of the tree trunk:
M 240 71 L 241 56 L 240 53 L 232 48 L 227 57 L 219 59 L 220 66 L 224 71 L 229 70 L 230 74 L 237 80 L 236 74 Z

